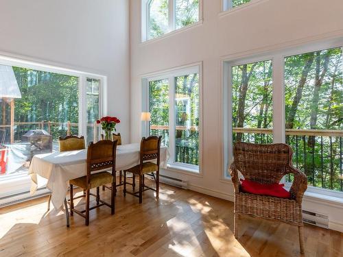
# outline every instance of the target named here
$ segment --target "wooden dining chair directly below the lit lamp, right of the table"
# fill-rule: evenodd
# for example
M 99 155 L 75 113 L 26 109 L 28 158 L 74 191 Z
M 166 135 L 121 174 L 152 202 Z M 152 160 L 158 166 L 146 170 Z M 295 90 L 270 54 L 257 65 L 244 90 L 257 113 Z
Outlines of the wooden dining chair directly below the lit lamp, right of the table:
M 126 196 L 126 193 L 139 197 L 139 204 L 142 203 L 142 193 L 143 191 L 152 190 L 156 191 L 156 198 L 159 195 L 160 187 L 160 153 L 161 153 L 161 140 L 162 136 L 149 136 L 148 138 L 143 137 L 141 140 L 141 151 L 140 151 L 140 163 L 124 171 L 124 188 L 123 194 Z M 155 160 L 155 162 L 153 162 Z M 139 176 L 139 191 L 134 191 L 134 184 L 132 185 L 132 192 L 126 191 L 126 173 L 132 173 Z M 145 186 L 144 184 L 144 175 L 148 173 L 156 172 L 156 189 L 151 188 L 150 186 Z

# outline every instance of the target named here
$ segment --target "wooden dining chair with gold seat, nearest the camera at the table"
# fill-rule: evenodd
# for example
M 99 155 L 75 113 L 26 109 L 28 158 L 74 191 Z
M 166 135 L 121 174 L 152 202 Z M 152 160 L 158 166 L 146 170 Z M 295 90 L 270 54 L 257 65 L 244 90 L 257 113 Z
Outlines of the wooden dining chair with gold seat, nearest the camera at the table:
M 86 219 L 86 225 L 89 225 L 89 211 L 100 206 L 108 206 L 111 208 L 111 214 L 115 214 L 115 190 L 111 193 L 111 203 L 100 199 L 99 187 L 104 184 L 112 184 L 112 188 L 115 188 L 115 158 L 117 151 L 117 140 L 101 140 L 97 143 L 89 143 L 87 150 L 87 175 L 69 180 L 70 184 L 70 215 L 73 216 L 73 212 L 84 217 Z M 95 173 L 95 171 L 103 169 L 111 169 L 111 173 L 107 171 L 101 171 Z M 82 188 L 86 194 L 79 197 L 73 197 L 73 186 Z M 91 193 L 91 188 L 97 188 L 97 193 L 94 195 Z M 97 204 L 93 207 L 89 207 L 90 195 L 96 198 Z M 76 210 L 74 208 L 74 199 L 86 197 L 86 209 Z

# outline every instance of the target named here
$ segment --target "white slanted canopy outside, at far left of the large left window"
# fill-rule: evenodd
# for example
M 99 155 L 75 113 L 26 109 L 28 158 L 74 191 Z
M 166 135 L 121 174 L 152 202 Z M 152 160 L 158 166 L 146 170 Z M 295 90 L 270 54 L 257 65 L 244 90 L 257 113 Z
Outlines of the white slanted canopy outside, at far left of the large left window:
M 21 98 L 21 91 L 11 66 L 0 65 L 0 98 Z

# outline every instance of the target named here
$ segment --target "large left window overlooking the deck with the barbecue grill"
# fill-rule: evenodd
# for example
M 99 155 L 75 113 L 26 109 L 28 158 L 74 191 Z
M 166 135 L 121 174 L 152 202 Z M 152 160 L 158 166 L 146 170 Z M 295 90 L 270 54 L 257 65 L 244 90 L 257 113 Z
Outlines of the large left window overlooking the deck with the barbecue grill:
M 32 157 L 58 151 L 60 136 L 98 140 L 102 77 L 7 59 L 0 59 L 0 77 L 3 201 L 29 191 Z

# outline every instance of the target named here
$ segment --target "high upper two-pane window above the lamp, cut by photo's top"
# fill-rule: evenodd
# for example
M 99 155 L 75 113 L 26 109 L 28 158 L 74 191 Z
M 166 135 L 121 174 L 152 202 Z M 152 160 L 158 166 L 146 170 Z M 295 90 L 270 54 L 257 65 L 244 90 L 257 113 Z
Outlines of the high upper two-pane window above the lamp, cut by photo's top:
M 143 40 L 157 38 L 199 21 L 200 0 L 143 1 Z

